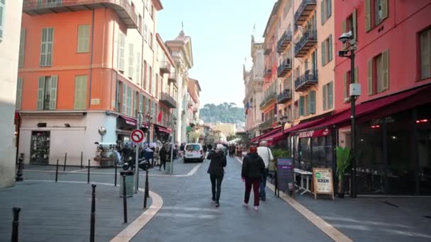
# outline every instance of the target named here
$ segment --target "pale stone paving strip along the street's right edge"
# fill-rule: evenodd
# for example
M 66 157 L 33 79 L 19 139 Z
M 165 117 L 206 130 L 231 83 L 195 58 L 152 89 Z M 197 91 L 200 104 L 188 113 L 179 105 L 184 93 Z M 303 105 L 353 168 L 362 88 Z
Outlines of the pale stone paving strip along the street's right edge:
M 240 159 L 235 157 L 238 162 L 242 163 Z M 271 183 L 267 183 L 267 187 L 271 189 L 273 192 L 275 191 L 274 185 Z M 342 234 L 338 229 L 335 229 L 334 226 L 323 220 L 322 218 L 318 217 L 316 214 L 308 210 L 306 207 L 304 207 L 299 202 L 296 202 L 296 200 L 293 200 L 289 195 L 286 195 L 284 192 L 280 191 L 280 198 L 287 202 L 289 205 L 291 205 L 296 211 L 298 211 L 300 214 L 303 215 L 303 217 L 306 217 L 311 223 L 313 223 L 318 229 L 323 231 L 326 235 L 328 235 L 330 238 L 332 238 L 333 241 L 342 241 L 342 242 L 351 242 L 352 239 L 345 236 L 345 234 Z

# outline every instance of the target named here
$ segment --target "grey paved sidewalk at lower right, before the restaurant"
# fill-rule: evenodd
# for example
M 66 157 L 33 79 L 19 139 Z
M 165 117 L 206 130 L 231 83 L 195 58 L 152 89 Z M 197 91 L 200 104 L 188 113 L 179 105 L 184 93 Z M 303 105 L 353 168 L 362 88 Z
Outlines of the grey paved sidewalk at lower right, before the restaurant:
M 431 198 L 296 200 L 353 241 L 431 241 Z

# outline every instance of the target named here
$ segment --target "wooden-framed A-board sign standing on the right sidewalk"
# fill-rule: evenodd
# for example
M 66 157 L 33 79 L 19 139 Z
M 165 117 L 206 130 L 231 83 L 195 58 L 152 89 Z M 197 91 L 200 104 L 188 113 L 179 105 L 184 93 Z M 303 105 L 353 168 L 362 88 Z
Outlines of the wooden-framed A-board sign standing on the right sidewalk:
M 318 194 L 332 195 L 334 200 L 334 186 L 331 168 L 313 168 L 314 199 Z

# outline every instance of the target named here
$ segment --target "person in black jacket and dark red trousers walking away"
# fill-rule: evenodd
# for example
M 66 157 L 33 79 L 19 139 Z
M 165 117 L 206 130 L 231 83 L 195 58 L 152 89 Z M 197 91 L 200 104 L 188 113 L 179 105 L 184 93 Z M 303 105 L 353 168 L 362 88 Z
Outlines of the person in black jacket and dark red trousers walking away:
M 254 209 L 259 209 L 259 185 L 264 172 L 265 163 L 257 154 L 257 147 L 250 147 L 250 153 L 242 160 L 242 181 L 245 182 L 244 206 L 248 206 L 253 186 Z

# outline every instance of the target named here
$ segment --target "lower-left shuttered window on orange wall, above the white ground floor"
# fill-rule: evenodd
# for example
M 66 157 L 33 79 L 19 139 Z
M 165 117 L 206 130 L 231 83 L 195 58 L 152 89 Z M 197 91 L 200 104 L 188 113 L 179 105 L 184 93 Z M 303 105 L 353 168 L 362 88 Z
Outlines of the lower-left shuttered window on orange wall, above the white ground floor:
M 38 81 L 38 110 L 57 108 L 58 76 L 40 76 Z

